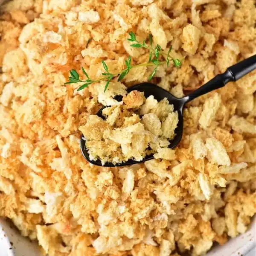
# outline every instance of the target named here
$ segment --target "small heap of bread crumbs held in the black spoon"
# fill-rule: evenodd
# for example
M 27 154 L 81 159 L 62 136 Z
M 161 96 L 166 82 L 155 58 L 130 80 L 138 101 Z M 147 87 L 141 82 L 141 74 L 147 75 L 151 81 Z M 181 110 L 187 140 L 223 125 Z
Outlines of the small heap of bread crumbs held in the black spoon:
M 90 160 L 116 164 L 152 154 L 156 159 L 175 159 L 168 146 L 175 137 L 178 113 L 167 98 L 157 102 L 153 95 L 145 99 L 143 92 L 132 90 L 116 104 L 102 110 L 105 120 L 90 115 L 79 127 Z

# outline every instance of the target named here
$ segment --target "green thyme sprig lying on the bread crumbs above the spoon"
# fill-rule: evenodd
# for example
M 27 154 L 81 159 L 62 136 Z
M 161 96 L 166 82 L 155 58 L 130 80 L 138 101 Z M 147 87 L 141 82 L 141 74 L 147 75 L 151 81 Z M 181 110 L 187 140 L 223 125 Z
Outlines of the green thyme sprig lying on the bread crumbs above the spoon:
M 118 71 L 116 73 L 110 73 L 108 70 L 108 65 L 105 63 L 105 61 L 102 61 L 103 68 L 105 70 L 104 73 L 102 73 L 102 77 L 97 79 L 97 80 L 92 80 L 88 76 L 87 72 L 84 70 L 82 67 L 82 71 L 84 75 L 86 76 L 86 80 L 80 80 L 79 79 L 79 73 L 77 73 L 76 70 L 72 69 L 70 70 L 70 77 L 68 78 L 69 81 L 65 84 L 76 84 L 76 83 L 84 83 L 82 84 L 77 90 L 83 90 L 85 87 L 88 87 L 88 85 L 99 82 L 99 81 L 106 81 L 105 89 L 104 92 L 108 89 L 108 85 L 111 82 L 111 80 L 115 77 L 118 77 L 118 81 L 121 81 L 133 68 L 137 67 L 147 67 L 147 66 L 154 66 L 153 72 L 150 74 L 148 77 L 148 80 L 151 80 L 155 73 L 157 72 L 157 68 L 162 65 L 166 64 L 167 67 L 169 66 L 169 62 L 172 61 L 174 66 L 179 68 L 181 67 L 182 61 L 177 58 L 172 58 L 169 54 L 172 51 L 172 46 L 169 48 L 168 53 L 166 54 L 163 49 L 160 47 L 159 44 L 157 44 L 155 47 L 153 46 L 153 38 L 152 35 L 149 35 L 149 44 L 146 43 L 145 40 L 143 42 L 139 42 L 136 38 L 136 35 L 134 32 L 129 32 L 130 38 L 127 40 L 130 42 L 134 42 L 131 44 L 131 47 L 135 48 L 145 48 L 148 49 L 149 55 L 148 55 L 148 62 L 145 62 L 143 64 L 138 64 L 138 65 L 131 65 L 131 56 L 127 60 L 125 60 L 125 69 Z M 160 56 L 165 56 L 165 61 L 160 61 Z

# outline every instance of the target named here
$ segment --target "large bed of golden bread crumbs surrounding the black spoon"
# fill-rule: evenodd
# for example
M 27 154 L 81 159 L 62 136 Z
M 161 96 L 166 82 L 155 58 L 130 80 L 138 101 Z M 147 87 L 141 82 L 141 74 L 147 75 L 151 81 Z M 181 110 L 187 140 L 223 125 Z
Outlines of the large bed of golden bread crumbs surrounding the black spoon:
M 153 79 L 177 97 L 255 54 L 254 0 L 12 0 L 0 16 L 0 216 L 49 256 L 199 256 L 247 230 L 255 214 L 256 73 L 184 111 L 173 160 L 92 166 L 79 127 L 106 97 L 76 91 L 68 71 L 99 76 L 148 53 L 126 40 L 153 35 L 180 69 Z M 90 40 L 91 39 L 91 40 Z M 87 45 L 87 42 L 90 43 Z M 112 71 L 110 70 L 110 71 Z M 125 86 L 146 81 L 140 67 Z M 80 73 L 83 76 L 82 73 Z M 111 93 L 112 92 L 112 93 Z M 118 93 L 117 93 L 118 94 Z M 113 105 L 113 104 L 112 104 Z

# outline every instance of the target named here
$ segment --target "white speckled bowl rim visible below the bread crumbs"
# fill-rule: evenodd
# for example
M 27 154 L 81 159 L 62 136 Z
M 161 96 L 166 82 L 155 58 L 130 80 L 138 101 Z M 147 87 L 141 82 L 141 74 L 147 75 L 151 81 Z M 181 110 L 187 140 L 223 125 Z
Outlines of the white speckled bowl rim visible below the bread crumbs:
M 8 239 L 9 238 L 9 239 Z M 12 245 L 10 244 L 12 242 Z M 206 256 L 246 256 L 256 246 L 256 217 L 246 233 L 213 247 Z M 11 248 L 11 249 L 10 249 Z M 0 218 L 0 256 L 41 256 L 35 242 L 22 237 L 12 224 Z

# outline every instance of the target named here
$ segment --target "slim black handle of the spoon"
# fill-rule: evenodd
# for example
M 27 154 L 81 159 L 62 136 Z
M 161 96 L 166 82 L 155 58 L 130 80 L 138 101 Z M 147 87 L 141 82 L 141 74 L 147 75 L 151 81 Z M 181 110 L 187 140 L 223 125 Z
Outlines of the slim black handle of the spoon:
M 190 93 L 188 96 L 183 99 L 185 102 L 190 102 L 193 99 L 223 87 L 230 81 L 236 81 L 241 77 L 245 76 L 249 72 L 256 69 L 256 55 L 251 56 L 239 63 L 227 68 L 227 71 L 215 76 L 213 79 L 208 81 L 206 84 L 202 85 L 200 88 Z

